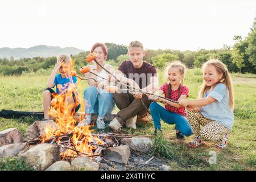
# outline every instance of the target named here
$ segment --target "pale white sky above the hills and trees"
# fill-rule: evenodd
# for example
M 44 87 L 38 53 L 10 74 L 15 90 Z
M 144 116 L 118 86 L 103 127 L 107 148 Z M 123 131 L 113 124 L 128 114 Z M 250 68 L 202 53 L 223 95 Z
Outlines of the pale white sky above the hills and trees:
M 245 38 L 255 17 L 255 0 L 0 0 L 0 48 L 139 40 L 146 49 L 217 49 Z

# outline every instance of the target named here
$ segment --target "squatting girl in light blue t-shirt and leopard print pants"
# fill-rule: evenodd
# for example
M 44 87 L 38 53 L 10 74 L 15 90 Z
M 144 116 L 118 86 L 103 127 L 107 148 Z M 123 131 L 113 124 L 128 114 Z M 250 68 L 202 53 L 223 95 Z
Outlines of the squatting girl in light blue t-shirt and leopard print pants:
M 198 147 L 204 140 L 212 140 L 217 141 L 215 147 L 224 149 L 234 122 L 232 81 L 226 65 L 219 60 L 204 63 L 203 74 L 199 99 L 179 103 L 189 110 L 188 121 L 196 134 L 189 146 Z

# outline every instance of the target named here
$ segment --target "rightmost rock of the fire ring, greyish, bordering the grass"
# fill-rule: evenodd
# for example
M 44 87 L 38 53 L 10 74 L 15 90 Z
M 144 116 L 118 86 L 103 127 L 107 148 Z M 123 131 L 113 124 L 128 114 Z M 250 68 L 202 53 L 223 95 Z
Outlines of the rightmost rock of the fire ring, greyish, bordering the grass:
M 147 137 L 123 138 L 123 144 L 127 144 L 131 150 L 139 152 L 149 152 L 153 146 L 153 142 Z

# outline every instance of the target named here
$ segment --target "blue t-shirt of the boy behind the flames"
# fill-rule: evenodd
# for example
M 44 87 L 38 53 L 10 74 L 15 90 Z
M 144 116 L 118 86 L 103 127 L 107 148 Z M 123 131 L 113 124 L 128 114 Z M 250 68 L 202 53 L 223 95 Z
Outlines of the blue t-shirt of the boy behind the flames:
M 56 85 L 56 93 L 60 94 L 63 92 L 65 89 L 68 88 L 69 84 L 76 84 L 77 82 L 77 77 L 76 76 L 68 76 L 68 77 L 61 77 L 60 74 L 55 76 L 54 84 Z

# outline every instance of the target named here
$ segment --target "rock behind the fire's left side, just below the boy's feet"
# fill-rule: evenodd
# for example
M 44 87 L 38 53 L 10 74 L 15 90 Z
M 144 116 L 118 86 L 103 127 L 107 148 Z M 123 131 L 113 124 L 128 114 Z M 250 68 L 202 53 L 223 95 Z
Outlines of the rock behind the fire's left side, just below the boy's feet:
M 53 120 L 48 121 L 35 121 L 31 126 L 27 128 L 25 136 L 27 139 L 36 139 L 44 134 L 44 127 L 55 127 L 57 123 Z

